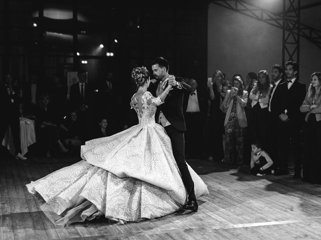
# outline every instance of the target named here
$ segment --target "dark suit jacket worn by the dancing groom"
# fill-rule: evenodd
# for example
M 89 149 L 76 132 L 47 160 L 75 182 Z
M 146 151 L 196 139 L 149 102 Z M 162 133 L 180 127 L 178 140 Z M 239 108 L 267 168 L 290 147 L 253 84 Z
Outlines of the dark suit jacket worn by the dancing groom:
M 176 80 L 181 83 L 182 89 L 174 86 L 170 93 L 166 96 L 165 102 L 157 106 L 157 111 L 155 114 L 155 120 L 157 122 L 159 112 L 162 110 L 166 119 L 177 129 L 181 131 L 186 131 L 185 119 L 183 114 L 183 97 L 185 91 L 192 91 L 192 87 L 187 84 L 182 77 L 176 77 Z M 153 96 L 156 96 L 156 89 L 158 87 L 159 81 L 150 81 L 148 91 Z

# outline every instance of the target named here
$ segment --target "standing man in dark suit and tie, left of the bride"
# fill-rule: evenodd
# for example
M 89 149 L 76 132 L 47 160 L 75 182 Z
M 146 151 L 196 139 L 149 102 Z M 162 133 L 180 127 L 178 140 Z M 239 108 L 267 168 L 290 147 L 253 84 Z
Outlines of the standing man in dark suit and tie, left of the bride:
M 78 110 L 79 121 L 87 129 L 86 139 L 89 139 L 92 129 L 92 103 L 93 88 L 87 80 L 87 72 L 84 70 L 77 73 L 79 82 L 70 86 L 70 109 Z

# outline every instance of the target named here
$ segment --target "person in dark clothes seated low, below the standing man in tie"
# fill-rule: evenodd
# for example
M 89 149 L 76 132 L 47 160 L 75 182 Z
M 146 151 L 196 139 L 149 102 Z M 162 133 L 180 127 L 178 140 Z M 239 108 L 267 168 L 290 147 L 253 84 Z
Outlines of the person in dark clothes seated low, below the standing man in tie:
M 71 153 L 80 150 L 80 146 L 85 141 L 85 133 L 82 129 L 81 122 L 78 120 L 77 110 L 71 110 L 69 116 L 60 124 L 60 140 Z

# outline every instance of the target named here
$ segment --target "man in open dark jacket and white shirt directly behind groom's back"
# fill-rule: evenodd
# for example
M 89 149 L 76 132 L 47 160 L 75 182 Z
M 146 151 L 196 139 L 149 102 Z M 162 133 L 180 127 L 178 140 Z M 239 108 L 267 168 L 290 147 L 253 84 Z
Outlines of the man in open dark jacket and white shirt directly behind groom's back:
M 189 157 L 202 157 L 204 153 L 202 127 L 207 113 L 207 100 L 203 92 L 198 89 L 198 83 L 194 78 L 191 78 L 190 85 L 192 92 L 189 94 L 185 92 L 183 100 L 183 111 L 187 128 L 185 133 L 185 149 Z

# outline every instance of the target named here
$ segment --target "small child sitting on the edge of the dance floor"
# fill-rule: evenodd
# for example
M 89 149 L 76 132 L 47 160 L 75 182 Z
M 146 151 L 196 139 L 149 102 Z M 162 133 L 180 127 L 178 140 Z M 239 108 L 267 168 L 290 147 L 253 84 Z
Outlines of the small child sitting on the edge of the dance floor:
M 274 173 L 274 170 L 271 169 L 273 161 L 269 154 L 262 149 L 261 143 L 259 141 L 253 141 L 251 147 L 252 155 L 250 173 L 257 176 Z

